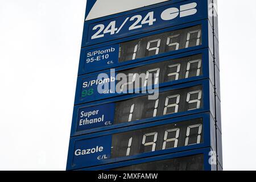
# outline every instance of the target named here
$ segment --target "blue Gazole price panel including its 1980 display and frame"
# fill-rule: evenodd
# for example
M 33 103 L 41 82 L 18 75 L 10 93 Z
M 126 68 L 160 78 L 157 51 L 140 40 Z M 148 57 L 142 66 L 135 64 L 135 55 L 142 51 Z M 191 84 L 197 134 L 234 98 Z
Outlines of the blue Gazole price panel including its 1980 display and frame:
M 72 138 L 69 152 L 74 158 L 69 158 L 69 166 L 77 169 L 204 146 L 216 148 L 210 136 L 214 125 L 212 115 L 205 113 Z

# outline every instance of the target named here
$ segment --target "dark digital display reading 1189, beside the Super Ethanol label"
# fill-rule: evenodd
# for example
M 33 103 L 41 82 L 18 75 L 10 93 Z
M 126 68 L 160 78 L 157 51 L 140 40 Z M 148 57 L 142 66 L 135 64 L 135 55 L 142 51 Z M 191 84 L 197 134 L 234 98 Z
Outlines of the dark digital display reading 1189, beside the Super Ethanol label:
M 197 85 L 159 93 L 156 100 L 148 100 L 148 96 L 142 96 L 120 101 L 115 106 L 114 121 L 131 122 L 200 109 L 203 106 L 202 98 L 202 86 Z

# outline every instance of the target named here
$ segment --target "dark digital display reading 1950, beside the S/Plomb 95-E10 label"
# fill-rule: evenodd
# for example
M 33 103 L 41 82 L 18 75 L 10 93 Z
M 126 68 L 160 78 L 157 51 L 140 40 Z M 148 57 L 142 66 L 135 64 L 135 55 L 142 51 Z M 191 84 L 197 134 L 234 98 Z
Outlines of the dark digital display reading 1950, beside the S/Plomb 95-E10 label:
M 131 40 L 120 44 L 118 61 L 124 62 L 164 52 L 200 46 L 202 44 L 201 38 L 201 25 L 198 25 Z

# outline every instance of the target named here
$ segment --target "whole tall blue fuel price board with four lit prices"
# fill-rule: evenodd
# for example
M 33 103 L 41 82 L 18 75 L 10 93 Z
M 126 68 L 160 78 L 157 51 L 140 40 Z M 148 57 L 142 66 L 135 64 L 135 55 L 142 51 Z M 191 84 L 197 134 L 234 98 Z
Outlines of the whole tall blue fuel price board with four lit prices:
M 86 5 L 67 170 L 221 170 L 216 1 L 118 1 Z

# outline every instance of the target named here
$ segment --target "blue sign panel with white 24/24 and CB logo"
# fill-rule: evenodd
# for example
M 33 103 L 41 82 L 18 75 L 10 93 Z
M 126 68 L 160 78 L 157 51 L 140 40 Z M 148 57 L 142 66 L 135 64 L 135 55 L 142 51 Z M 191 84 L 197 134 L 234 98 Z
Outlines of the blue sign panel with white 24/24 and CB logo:
M 208 18 L 208 1 L 192 0 L 117 16 L 86 21 L 82 47 Z

